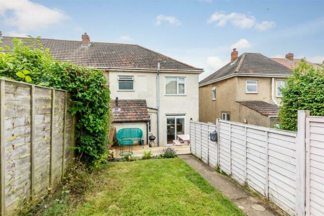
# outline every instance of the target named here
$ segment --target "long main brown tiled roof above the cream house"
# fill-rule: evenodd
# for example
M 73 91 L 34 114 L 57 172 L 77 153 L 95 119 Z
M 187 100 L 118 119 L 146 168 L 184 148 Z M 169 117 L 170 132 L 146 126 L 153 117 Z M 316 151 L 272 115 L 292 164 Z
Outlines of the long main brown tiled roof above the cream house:
M 3 43 L 0 43 L 0 46 L 12 46 L 11 41 L 13 38 L 2 36 L 1 41 Z M 18 39 L 27 45 L 32 44 L 30 38 L 18 37 Z M 89 47 L 82 47 L 81 41 L 41 38 L 40 42 L 44 48 L 49 49 L 53 59 L 88 67 L 156 70 L 157 64 L 160 63 L 161 71 L 179 70 L 203 72 L 203 69 L 187 65 L 137 44 L 90 42 Z

